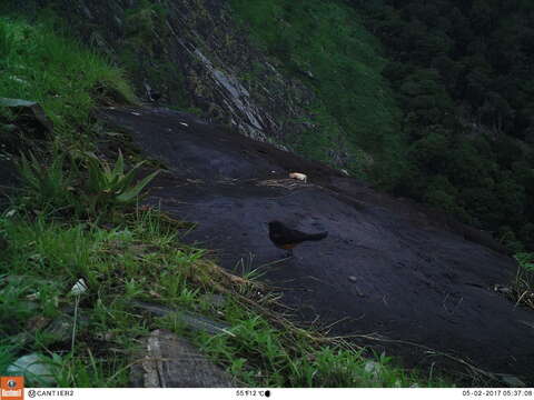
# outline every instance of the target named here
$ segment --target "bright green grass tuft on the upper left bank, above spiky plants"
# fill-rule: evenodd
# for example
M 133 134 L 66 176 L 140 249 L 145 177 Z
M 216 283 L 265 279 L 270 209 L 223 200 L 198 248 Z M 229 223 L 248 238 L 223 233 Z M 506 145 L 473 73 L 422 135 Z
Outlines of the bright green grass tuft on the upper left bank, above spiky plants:
M 96 104 L 135 101 L 120 69 L 46 23 L 0 18 L 0 97 L 39 102 L 67 143 L 87 134 Z

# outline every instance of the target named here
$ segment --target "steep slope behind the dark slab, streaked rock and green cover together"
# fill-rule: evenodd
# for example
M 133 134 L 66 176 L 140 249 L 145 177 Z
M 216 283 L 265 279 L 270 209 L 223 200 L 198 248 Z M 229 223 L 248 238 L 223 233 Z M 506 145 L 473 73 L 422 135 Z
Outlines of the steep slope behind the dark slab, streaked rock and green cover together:
M 339 2 L 31 0 L 134 78 L 147 101 L 384 183 L 397 174 L 399 110 L 385 60 Z M 379 171 L 379 173 L 378 173 Z

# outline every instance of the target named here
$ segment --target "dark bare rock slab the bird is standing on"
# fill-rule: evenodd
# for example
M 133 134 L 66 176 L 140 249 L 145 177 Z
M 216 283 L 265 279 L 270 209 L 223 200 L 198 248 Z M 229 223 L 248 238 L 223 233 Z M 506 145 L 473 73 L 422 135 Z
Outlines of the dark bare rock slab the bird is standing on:
M 534 312 L 493 290 L 510 284 L 517 266 L 490 236 L 189 114 L 106 109 L 100 118 L 170 168 L 149 202 L 198 223 L 184 239 L 214 249 L 229 270 L 263 266 L 297 320 L 387 339 L 355 340 L 409 367 L 466 372 L 429 348 L 534 383 Z M 287 179 L 293 171 L 308 182 Z M 283 260 L 268 238 L 271 220 L 328 238 Z

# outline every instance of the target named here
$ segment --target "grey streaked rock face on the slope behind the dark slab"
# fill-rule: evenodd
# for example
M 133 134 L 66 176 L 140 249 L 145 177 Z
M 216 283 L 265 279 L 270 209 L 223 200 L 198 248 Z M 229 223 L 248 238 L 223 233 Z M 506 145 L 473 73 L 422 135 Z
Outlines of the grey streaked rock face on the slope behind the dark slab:
M 226 1 L 37 0 L 58 4 L 77 34 L 128 71 L 146 100 L 196 108 L 261 141 L 309 127 L 313 92 L 284 77 L 247 39 Z

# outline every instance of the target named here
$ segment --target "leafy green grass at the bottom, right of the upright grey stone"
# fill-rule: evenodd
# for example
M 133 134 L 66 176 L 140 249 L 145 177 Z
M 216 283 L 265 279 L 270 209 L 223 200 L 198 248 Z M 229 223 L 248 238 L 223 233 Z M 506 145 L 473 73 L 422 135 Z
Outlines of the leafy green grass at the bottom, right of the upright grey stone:
M 365 349 L 281 323 L 283 329 L 238 303 L 226 306 L 230 332 L 200 334 L 196 342 L 245 386 L 286 388 L 408 387 L 425 379 L 396 368 L 389 358 L 364 357 Z M 320 343 L 322 346 L 318 346 Z M 419 382 L 419 383 L 417 383 Z M 451 386 L 443 380 L 424 383 Z

